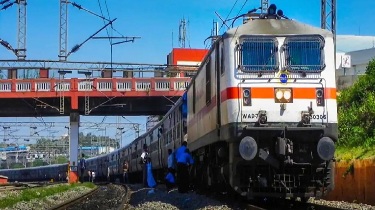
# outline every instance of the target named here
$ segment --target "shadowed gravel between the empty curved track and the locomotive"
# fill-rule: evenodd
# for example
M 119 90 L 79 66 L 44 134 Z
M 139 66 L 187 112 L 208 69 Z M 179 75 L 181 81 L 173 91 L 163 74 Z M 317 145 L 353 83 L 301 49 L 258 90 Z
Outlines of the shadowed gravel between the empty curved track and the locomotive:
M 141 185 L 129 187 L 128 210 L 232 210 L 220 201 L 193 192 L 181 194 L 177 189 L 168 192 L 166 189 L 141 188 Z M 150 190 L 153 193 L 149 194 Z

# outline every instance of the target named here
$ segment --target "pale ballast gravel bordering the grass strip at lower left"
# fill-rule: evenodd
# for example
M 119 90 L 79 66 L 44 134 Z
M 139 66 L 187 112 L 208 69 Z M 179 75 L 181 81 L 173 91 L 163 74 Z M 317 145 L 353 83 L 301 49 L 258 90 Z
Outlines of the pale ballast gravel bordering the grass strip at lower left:
M 51 208 L 52 206 L 63 203 L 66 200 L 69 200 L 71 198 L 77 197 L 78 195 L 84 194 L 84 193 L 86 193 L 90 190 L 91 189 L 88 188 L 88 187 L 79 186 L 79 187 L 72 188 L 68 191 L 65 191 L 65 192 L 62 192 L 62 193 L 57 193 L 57 194 L 54 194 L 54 195 L 51 195 L 51 196 L 48 196 L 48 197 L 45 197 L 45 198 L 42 198 L 42 199 L 33 199 L 31 201 L 28 201 L 28 202 L 23 201 L 23 202 L 15 204 L 12 207 L 7 207 L 4 210 L 14 210 L 14 209 L 17 209 L 17 210 L 41 210 L 41 209 L 48 209 L 48 208 Z M 20 191 L 18 191 L 18 192 L 17 191 L 16 192 L 5 192 L 5 193 L 7 193 L 6 196 L 12 196 L 12 195 L 15 195 L 17 193 L 20 193 Z M 3 195 L 1 195 L 1 197 L 5 198 L 5 197 L 3 197 Z

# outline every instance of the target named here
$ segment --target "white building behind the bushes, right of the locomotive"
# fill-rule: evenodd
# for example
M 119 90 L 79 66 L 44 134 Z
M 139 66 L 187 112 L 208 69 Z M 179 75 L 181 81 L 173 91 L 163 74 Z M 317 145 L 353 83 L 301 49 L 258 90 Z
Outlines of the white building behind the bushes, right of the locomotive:
M 365 74 L 368 62 L 375 58 L 375 37 L 338 35 L 336 41 L 336 86 L 342 89 Z

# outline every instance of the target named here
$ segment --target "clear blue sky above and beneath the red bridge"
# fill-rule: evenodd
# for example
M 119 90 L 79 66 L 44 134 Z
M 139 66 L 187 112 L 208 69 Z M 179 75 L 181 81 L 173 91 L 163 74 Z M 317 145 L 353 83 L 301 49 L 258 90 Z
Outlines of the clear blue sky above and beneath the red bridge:
M 235 16 L 246 0 L 238 0 L 229 17 Z M 289 18 L 320 27 L 320 0 L 270 0 L 278 9 L 282 9 Z M 100 14 L 97 0 L 77 0 L 84 8 Z M 166 55 L 173 46 L 178 47 L 178 21 L 181 18 L 190 22 L 190 46 L 203 48 L 203 40 L 210 35 L 213 19 L 218 12 L 225 18 L 235 0 L 107 0 L 111 19 L 117 18 L 114 28 L 126 36 L 140 36 L 135 43 L 120 44 L 113 47 L 114 62 L 166 63 Z M 58 57 L 59 1 L 27 1 L 27 59 L 55 59 Z M 108 18 L 104 0 L 100 0 L 103 13 Z M 361 6 L 360 13 L 358 8 Z M 365 6 L 363 6 L 365 5 Z M 248 0 L 241 13 L 260 6 L 260 0 Z M 337 9 L 338 34 L 374 35 L 374 27 L 368 27 L 375 21 L 372 10 L 375 1 L 364 0 L 362 4 L 351 0 L 339 0 Z M 68 49 L 81 43 L 104 23 L 102 19 L 69 5 L 68 9 Z M 240 23 L 238 21 L 237 23 Z M 224 27 L 223 27 L 224 28 Z M 220 34 L 223 33 L 223 29 Z M 98 35 L 106 36 L 103 30 Z M 118 35 L 114 32 L 114 35 Z M 17 47 L 17 5 L 0 11 L 0 38 Z M 188 45 L 188 44 L 187 44 Z M 15 56 L 0 46 L 0 59 L 15 59 Z M 110 61 L 108 40 L 89 40 L 78 52 L 68 58 L 69 61 Z M 102 121 L 103 117 L 81 117 L 81 120 Z M 145 117 L 127 117 L 134 123 L 144 124 Z M 1 118 L 1 121 L 15 119 Z M 30 118 L 19 121 L 30 121 Z M 33 119 L 34 121 L 36 119 Z M 68 118 L 44 118 L 45 121 L 67 121 Z M 122 120 L 123 122 L 125 120 Z M 115 122 L 115 117 L 107 117 L 106 122 Z M 28 130 L 24 133 L 29 133 Z M 0 133 L 0 135 L 3 135 Z M 56 134 L 55 134 L 56 135 Z M 114 132 L 113 132 L 114 135 Z M 129 136 L 130 135 L 130 136 Z M 132 133 L 124 143 L 133 139 Z M 1 138 L 0 138 L 1 139 Z

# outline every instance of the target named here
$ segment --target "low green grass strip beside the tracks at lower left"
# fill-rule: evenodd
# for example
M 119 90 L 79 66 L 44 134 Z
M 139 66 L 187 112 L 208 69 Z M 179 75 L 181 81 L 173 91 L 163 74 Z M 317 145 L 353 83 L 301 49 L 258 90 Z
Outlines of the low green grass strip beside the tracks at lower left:
M 78 186 L 86 186 L 89 188 L 95 188 L 95 184 L 91 182 L 85 182 L 85 183 L 71 183 L 69 185 L 57 185 L 57 186 L 49 186 L 49 187 L 24 189 L 18 195 L 7 197 L 3 200 L 0 200 L 0 209 L 13 206 L 14 204 L 22 202 L 22 201 L 42 199 L 50 195 L 68 191 L 69 189 L 72 189 Z

